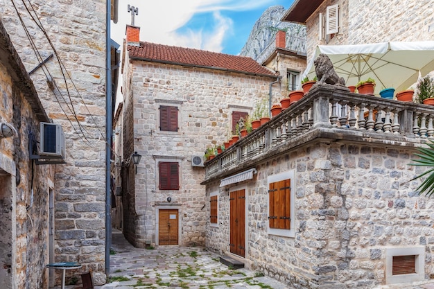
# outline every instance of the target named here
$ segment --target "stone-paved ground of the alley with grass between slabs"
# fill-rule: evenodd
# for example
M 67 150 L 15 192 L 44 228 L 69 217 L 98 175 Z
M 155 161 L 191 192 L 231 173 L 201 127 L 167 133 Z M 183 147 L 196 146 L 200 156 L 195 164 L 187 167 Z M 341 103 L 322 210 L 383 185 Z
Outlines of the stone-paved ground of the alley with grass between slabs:
M 110 255 L 110 283 L 95 289 L 293 289 L 259 272 L 231 270 L 220 263 L 218 254 L 203 247 L 138 249 L 123 238 L 121 231 L 113 229 L 112 248 L 116 253 Z M 434 289 L 434 281 L 363 289 Z

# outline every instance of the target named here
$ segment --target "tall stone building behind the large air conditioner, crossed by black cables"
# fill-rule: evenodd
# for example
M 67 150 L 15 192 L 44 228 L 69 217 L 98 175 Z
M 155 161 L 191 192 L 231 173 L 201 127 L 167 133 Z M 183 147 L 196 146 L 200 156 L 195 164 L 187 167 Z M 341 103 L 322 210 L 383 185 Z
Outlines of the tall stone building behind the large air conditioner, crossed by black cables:
M 80 272 L 92 270 L 94 283 L 103 284 L 108 270 L 107 162 L 114 103 L 110 91 L 116 91 L 112 87 L 116 78 L 110 78 L 110 74 L 115 75 L 115 71 L 110 73 L 110 65 L 114 67 L 116 61 L 116 45 L 110 46 L 108 27 L 110 19 L 116 20 L 116 6 L 114 0 L 0 0 L 3 25 L 30 71 L 49 119 L 62 125 L 66 137 L 65 164 L 55 166 L 52 184 L 55 242 L 51 256 L 56 262 L 77 261 L 83 265 L 68 272 L 67 282 L 80 279 Z M 29 211 L 24 207 L 19 213 L 25 218 Z M 32 270 L 43 265 L 32 266 Z M 58 284 L 59 273 L 55 272 Z

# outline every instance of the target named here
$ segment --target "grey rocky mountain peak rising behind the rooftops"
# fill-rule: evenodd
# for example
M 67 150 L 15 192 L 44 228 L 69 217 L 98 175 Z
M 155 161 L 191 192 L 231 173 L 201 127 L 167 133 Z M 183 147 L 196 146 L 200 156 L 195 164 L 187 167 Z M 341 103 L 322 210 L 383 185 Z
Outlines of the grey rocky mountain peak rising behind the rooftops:
M 257 56 L 266 49 L 268 44 L 275 41 L 274 37 L 278 30 L 286 30 L 288 33 L 305 38 L 305 26 L 280 21 L 285 12 L 284 6 L 271 6 L 265 10 L 254 24 L 240 55 L 256 60 Z

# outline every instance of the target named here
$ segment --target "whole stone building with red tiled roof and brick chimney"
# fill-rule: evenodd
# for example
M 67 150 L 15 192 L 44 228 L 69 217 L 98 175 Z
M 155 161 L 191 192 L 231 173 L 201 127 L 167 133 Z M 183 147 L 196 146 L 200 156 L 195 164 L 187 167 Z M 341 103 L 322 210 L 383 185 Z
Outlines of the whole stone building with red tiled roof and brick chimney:
M 286 88 L 251 58 L 139 42 L 138 31 L 127 27 L 123 50 L 123 233 L 137 247 L 204 245 L 205 149 Z

